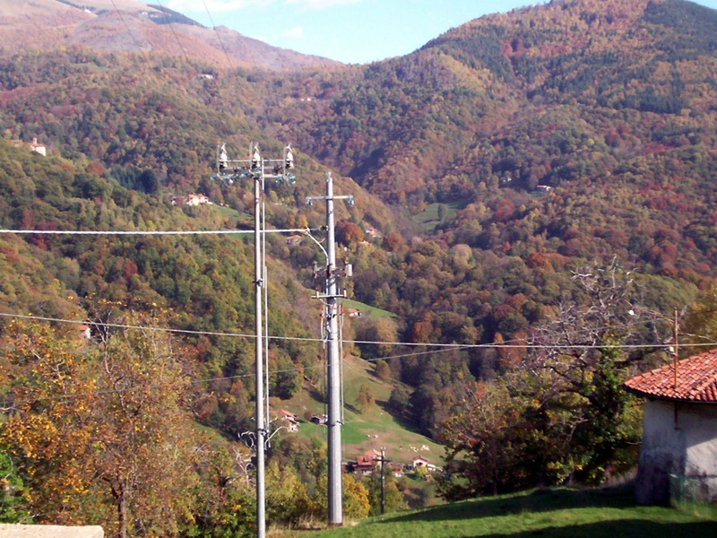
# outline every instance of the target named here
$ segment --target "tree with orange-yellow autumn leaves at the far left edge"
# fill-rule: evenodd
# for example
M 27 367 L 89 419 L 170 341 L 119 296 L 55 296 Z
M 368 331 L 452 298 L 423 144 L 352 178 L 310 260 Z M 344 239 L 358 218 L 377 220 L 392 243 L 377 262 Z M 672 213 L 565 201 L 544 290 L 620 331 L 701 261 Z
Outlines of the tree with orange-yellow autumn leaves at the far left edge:
M 90 372 L 46 327 L 10 324 L 3 343 L 13 382 L 0 442 L 27 477 L 32 511 L 58 524 L 82 522 L 88 508 L 107 515 L 109 507 L 95 502 L 99 484 L 86 457 L 96 394 Z

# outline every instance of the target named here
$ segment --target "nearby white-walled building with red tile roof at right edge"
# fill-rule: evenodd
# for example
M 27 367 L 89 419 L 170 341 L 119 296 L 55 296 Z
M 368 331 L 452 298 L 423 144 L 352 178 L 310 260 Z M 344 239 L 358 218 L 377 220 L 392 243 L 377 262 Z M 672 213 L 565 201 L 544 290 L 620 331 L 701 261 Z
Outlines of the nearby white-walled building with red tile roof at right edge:
M 717 350 L 631 377 L 625 388 L 647 399 L 637 502 L 717 500 Z

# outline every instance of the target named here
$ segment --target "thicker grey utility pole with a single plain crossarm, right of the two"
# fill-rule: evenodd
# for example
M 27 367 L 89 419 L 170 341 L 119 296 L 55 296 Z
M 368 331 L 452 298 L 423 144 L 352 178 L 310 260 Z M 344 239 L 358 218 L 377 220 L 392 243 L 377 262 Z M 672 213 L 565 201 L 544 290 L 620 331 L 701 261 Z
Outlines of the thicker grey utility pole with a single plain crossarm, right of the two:
M 326 195 L 309 196 L 307 203 L 314 200 L 326 201 L 326 279 L 324 295 L 317 295 L 325 299 L 324 323 L 326 324 L 328 339 L 328 516 L 329 525 L 343 525 L 342 490 L 341 490 L 341 355 L 339 353 L 339 305 L 337 299 L 344 297 L 337 290 L 337 277 L 342 271 L 336 268 L 336 242 L 334 237 L 333 201 L 348 200 L 353 204 L 353 196 L 334 196 L 333 178 L 331 172 L 326 173 Z

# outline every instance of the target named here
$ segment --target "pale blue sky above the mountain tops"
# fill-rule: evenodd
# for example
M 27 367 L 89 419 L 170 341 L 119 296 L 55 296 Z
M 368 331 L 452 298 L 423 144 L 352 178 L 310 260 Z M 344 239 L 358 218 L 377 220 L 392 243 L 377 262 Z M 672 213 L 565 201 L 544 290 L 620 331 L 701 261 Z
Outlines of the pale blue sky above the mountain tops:
M 487 13 L 542 4 L 535 0 L 165 0 L 163 5 L 211 27 L 346 64 L 403 56 Z M 717 9 L 717 0 L 699 0 Z

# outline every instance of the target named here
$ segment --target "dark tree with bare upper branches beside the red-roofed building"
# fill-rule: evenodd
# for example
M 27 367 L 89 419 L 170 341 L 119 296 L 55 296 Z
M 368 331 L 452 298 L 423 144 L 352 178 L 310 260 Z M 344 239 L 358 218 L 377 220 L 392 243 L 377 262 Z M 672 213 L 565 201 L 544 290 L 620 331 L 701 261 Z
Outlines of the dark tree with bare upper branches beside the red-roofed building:
M 640 415 L 622 383 L 650 364 L 652 348 L 630 314 L 635 282 L 618 265 L 574 279 L 583 301 L 560 305 L 530 352 L 503 377 L 469 387 L 443 423 L 448 466 L 464 479 L 444 481 L 445 497 L 600 483 L 636 464 Z

